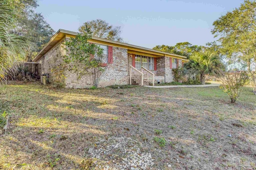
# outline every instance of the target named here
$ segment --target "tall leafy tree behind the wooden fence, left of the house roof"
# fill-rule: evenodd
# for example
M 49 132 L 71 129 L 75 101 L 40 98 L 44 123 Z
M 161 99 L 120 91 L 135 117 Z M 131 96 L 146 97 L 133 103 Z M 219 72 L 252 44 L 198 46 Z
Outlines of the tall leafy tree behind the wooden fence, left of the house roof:
M 34 56 L 50 40 L 54 30 L 34 9 L 38 6 L 36 0 L 9 0 L 16 13 L 15 27 L 12 33 L 31 37 L 31 46 L 25 56 L 26 61 L 32 61 Z

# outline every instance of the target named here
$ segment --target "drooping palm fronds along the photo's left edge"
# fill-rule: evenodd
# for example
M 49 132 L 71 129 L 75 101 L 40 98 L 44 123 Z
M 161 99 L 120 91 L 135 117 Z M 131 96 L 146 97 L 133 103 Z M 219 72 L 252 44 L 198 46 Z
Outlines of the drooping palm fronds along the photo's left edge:
M 6 83 L 8 76 L 17 67 L 17 62 L 29 47 L 28 37 L 12 35 L 15 23 L 13 8 L 6 0 L 0 0 L 0 84 Z

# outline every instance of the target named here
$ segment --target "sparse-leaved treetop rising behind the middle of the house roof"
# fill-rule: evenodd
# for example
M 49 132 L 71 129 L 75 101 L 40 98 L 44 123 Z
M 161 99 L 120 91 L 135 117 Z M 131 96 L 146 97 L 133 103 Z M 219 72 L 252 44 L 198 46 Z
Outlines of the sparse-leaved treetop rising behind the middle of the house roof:
M 110 25 L 104 20 L 92 20 L 85 22 L 82 26 L 78 28 L 80 33 L 86 32 L 86 27 L 90 28 L 92 31 L 92 36 L 106 38 L 114 41 L 122 42 L 123 39 L 120 37 L 121 27 Z

